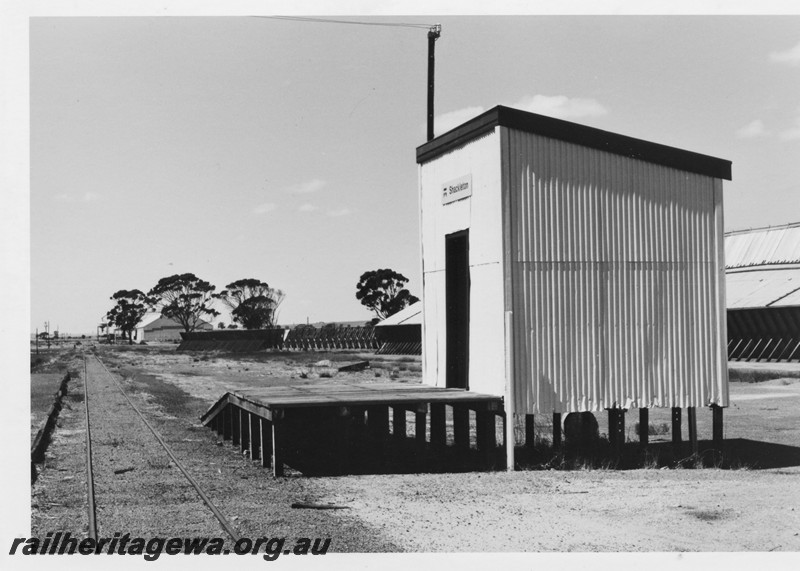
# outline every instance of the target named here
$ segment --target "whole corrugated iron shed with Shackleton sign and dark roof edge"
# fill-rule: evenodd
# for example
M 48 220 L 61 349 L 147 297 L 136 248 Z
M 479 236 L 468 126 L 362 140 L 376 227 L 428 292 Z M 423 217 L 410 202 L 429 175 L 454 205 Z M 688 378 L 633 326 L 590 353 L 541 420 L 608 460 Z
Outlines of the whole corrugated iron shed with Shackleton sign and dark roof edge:
M 516 414 L 727 406 L 729 161 L 496 107 L 417 162 L 424 382 Z

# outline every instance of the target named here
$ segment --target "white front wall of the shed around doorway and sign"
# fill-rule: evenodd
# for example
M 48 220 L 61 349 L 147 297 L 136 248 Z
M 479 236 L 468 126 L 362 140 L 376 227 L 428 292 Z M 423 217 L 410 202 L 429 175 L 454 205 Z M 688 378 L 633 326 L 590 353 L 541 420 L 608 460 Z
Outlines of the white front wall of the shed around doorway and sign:
M 423 382 L 446 384 L 445 236 L 469 229 L 469 388 L 502 395 L 501 157 L 497 130 L 420 165 Z M 472 175 L 472 196 L 442 204 L 441 185 Z M 499 387 L 499 388 L 498 388 Z

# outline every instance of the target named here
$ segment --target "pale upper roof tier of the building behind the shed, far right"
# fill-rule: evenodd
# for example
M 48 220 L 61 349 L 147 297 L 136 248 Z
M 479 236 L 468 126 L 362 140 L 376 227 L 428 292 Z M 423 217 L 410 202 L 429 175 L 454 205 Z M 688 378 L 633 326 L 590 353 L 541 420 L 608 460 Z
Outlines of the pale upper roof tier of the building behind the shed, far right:
M 800 264 L 800 222 L 725 234 L 725 267 Z

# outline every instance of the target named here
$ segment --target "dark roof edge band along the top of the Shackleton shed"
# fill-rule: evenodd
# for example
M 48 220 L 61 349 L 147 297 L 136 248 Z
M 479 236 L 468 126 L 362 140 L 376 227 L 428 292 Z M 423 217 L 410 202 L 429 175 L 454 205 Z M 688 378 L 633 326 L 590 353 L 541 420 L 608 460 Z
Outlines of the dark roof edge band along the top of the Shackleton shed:
M 459 127 L 451 129 L 432 141 L 417 147 L 417 163 L 422 164 L 431 161 L 472 139 L 480 137 L 498 125 L 607 151 L 632 159 L 639 159 L 714 178 L 731 180 L 731 162 L 724 159 L 668 147 L 643 139 L 618 135 L 610 131 L 603 131 L 602 129 L 520 111 L 519 109 L 512 109 L 502 105 L 498 105 Z

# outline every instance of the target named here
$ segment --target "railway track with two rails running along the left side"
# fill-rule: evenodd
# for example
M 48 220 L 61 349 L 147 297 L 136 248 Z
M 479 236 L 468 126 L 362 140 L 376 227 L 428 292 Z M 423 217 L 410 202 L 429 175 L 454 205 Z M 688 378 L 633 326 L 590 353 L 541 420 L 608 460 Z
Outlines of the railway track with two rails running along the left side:
M 136 492 L 139 492 L 141 498 L 146 499 L 149 507 L 152 508 L 148 510 L 152 514 L 151 517 L 145 517 L 145 521 L 139 521 L 139 531 L 145 536 L 148 533 L 156 535 L 156 527 L 148 528 L 147 520 L 149 523 L 157 524 L 163 523 L 164 518 L 169 517 L 166 511 L 161 510 L 164 512 L 161 514 L 158 509 L 157 492 L 160 491 L 165 495 L 180 493 L 182 497 L 187 498 L 189 495 L 186 490 L 188 484 L 196 495 L 195 501 L 199 499 L 204 505 L 205 516 L 197 513 L 200 511 L 199 509 L 191 510 L 194 512 L 195 519 L 200 517 L 200 519 L 209 520 L 209 516 L 213 515 L 215 523 L 221 526 L 234 543 L 237 542 L 240 539 L 239 533 L 197 480 L 192 477 L 184 463 L 167 444 L 165 438 L 159 434 L 125 392 L 117 375 L 109 371 L 96 355 L 84 355 L 83 363 L 89 537 L 97 539 L 101 531 L 106 537 L 120 530 L 131 531 L 130 526 L 125 522 L 132 519 L 133 512 L 138 511 L 127 509 L 134 507 L 130 504 L 131 500 L 136 500 Z M 146 430 L 142 430 L 142 428 Z M 146 436 L 147 434 L 150 435 L 149 438 Z M 131 464 L 130 460 L 133 455 L 139 460 L 140 465 L 144 462 L 151 468 L 160 469 L 161 472 L 166 472 L 165 466 L 166 468 L 174 466 L 180 472 L 181 477 L 176 477 L 174 471 L 169 470 L 169 477 L 150 478 L 155 481 L 149 490 L 147 487 L 138 490 L 132 484 L 133 494 L 120 493 L 120 483 L 116 481 L 115 477 L 136 470 L 136 466 L 128 465 Z M 164 457 L 168 458 L 171 464 L 169 462 L 165 464 Z M 173 485 L 170 486 L 170 483 Z M 146 496 L 148 491 L 150 495 Z M 187 504 L 190 503 L 187 501 Z M 98 514 L 100 514 L 99 517 Z M 138 517 L 141 519 L 141 516 Z M 206 533 L 210 533 L 211 529 L 207 522 L 206 525 L 202 523 L 195 525 L 194 529 L 199 531 L 204 527 Z

